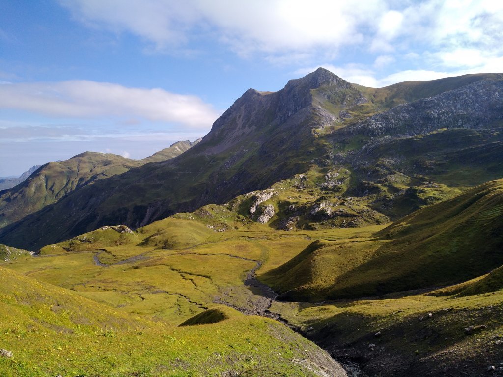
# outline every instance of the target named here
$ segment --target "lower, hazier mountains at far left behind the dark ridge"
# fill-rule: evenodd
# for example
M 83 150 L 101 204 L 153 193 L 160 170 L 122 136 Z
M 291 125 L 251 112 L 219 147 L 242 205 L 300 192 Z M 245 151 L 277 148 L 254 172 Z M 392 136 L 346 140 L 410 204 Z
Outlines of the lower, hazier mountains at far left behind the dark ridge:
M 200 139 L 199 139 L 200 140 Z M 0 228 L 58 202 L 67 194 L 113 175 L 149 162 L 163 161 L 199 142 L 179 141 L 142 160 L 99 152 L 84 152 L 65 161 L 49 162 L 24 173 L 29 178 L 10 190 L 0 192 Z

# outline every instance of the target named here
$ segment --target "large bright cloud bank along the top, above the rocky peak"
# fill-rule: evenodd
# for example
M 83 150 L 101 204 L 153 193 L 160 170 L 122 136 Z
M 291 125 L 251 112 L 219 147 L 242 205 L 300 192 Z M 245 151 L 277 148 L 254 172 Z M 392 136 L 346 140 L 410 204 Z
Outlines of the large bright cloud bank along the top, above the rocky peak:
M 503 59 L 503 3 L 493 0 L 60 0 L 60 4 L 90 27 L 130 33 L 158 51 L 206 38 L 218 40 L 240 57 L 258 56 L 295 69 L 322 62 L 334 66 L 348 52 L 373 56 L 374 63 L 365 67 L 342 67 L 343 72 L 350 69 L 358 83 L 373 86 L 409 78 L 413 72 L 418 75 L 415 79 L 432 79 L 500 71 Z

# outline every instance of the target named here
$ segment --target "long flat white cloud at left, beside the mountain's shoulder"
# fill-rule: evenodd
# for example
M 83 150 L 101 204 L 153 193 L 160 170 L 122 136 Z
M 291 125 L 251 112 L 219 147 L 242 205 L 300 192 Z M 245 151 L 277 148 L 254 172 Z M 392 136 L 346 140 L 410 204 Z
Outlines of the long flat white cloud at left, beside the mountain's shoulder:
M 86 80 L 0 85 L 0 108 L 65 118 L 139 117 L 201 129 L 218 117 L 196 96 Z

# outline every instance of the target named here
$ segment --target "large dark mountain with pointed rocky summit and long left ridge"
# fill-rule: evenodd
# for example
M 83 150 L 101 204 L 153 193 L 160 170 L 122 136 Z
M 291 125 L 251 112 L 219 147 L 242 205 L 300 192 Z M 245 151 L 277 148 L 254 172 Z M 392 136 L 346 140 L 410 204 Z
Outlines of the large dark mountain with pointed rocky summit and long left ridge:
M 137 228 L 311 169 L 348 171 L 344 183 L 315 182 L 324 191 L 313 201 L 328 196 L 327 211 L 357 198 L 362 219 L 398 219 L 503 176 L 501 92 L 499 73 L 367 88 L 320 68 L 277 92 L 247 90 L 187 153 L 81 186 L 0 240 L 35 250 L 103 225 Z M 359 223 L 336 215 L 316 226 Z

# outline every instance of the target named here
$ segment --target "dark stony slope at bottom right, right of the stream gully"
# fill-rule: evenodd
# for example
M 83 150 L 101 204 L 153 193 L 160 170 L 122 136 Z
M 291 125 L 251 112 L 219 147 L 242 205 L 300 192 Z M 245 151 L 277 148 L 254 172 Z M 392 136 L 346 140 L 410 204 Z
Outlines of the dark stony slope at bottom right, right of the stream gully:
M 365 375 L 475 377 L 490 365 L 497 370 L 503 357 L 502 282 L 471 296 L 408 293 L 318 305 L 275 303 L 271 311 L 331 353 L 358 361 Z

